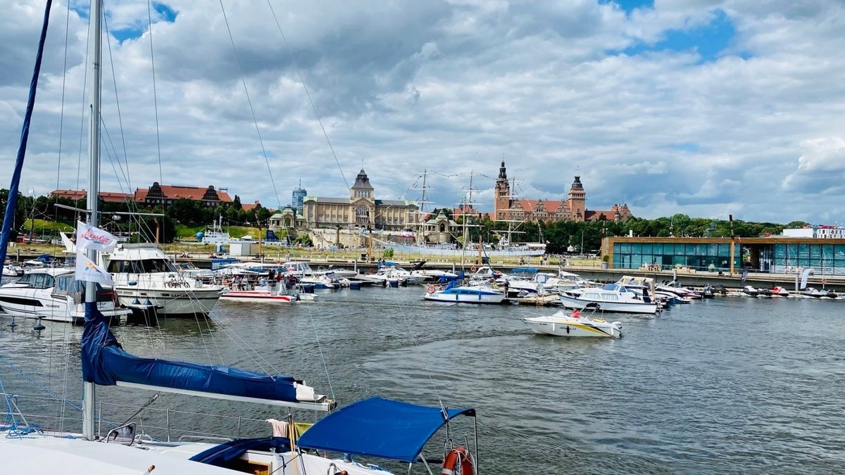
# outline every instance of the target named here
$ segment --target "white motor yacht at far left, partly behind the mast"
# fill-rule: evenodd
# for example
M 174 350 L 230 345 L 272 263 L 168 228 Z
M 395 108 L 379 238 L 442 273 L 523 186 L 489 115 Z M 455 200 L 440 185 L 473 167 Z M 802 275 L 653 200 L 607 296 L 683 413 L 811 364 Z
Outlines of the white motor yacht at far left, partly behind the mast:
M 112 289 L 97 288 L 97 308 L 109 319 L 132 311 L 119 308 Z M 30 270 L 19 280 L 0 287 L 0 308 L 14 317 L 81 324 L 85 319 L 85 282 L 74 280 L 73 269 Z

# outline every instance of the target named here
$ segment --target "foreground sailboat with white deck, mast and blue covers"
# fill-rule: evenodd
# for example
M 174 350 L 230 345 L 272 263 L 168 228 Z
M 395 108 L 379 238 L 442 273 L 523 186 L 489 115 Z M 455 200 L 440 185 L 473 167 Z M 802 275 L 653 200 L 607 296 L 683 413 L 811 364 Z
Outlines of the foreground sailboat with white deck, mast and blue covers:
M 44 42 L 51 1 L 46 12 L 35 72 L 27 104 L 19 154 L 15 164 L 10 199 L 0 234 L 0 262 L 3 262 L 14 212 L 20 172 L 23 167 L 30 117 L 35 103 L 35 87 L 44 51 Z M 89 54 L 89 188 L 87 226 L 103 239 L 103 248 L 79 246 L 77 278 L 86 281 L 85 327 L 81 342 L 83 379 L 82 433 L 53 432 L 27 423 L 23 413 L 14 412 L 14 396 L 3 394 L 8 407 L 7 420 L 0 426 L 0 459 L 3 472 L 63 474 L 221 474 L 236 472 L 299 474 L 347 473 L 351 475 L 383 475 L 379 467 L 365 467 L 348 456 L 332 459 L 309 453 L 323 450 L 348 455 L 373 456 L 408 463 L 408 472 L 417 461 L 429 473 L 428 461 L 420 456 L 423 445 L 442 427 L 449 430 L 450 421 L 458 416 L 475 417 L 472 408 L 424 407 L 390 401 L 380 397 L 358 401 L 335 411 L 335 401 L 317 394 L 312 387 L 292 376 L 262 374 L 226 366 L 140 358 L 125 351 L 112 333 L 106 316 L 96 302 L 97 279 L 110 279 L 98 268 L 97 253 L 109 245 L 107 233 L 97 227 L 99 221 L 98 191 L 100 182 L 100 64 L 102 35 L 102 3 L 94 0 L 90 8 Z M 85 249 L 85 247 L 88 247 Z M 85 251 L 85 252 L 83 252 Z M 80 272 L 82 273 L 80 279 Z M 171 392 L 202 396 L 238 403 L 249 402 L 271 407 L 303 408 L 331 412 L 297 438 L 293 424 L 274 425 L 274 437 L 232 440 L 223 444 L 174 443 L 150 440 L 136 434 L 136 424 L 123 423 L 106 434 L 97 434 L 95 395 L 98 385 Z M 136 412 L 137 415 L 137 412 Z M 9 423 L 9 418 L 11 422 Z M 131 419 L 131 418 L 130 418 Z M 275 421 L 279 422 L 279 421 Z M 477 434 L 477 430 L 476 430 Z M 444 470 L 475 472 L 470 451 L 451 444 L 447 435 L 444 445 Z

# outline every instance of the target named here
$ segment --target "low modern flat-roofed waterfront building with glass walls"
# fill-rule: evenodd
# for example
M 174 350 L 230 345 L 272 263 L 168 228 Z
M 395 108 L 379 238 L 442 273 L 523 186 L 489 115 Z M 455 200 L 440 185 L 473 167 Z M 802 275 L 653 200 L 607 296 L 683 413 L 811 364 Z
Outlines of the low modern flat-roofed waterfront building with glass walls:
M 732 248 L 733 245 L 733 248 Z M 728 272 L 793 274 L 810 268 L 817 276 L 845 275 L 845 239 L 795 238 L 604 238 L 602 254 L 613 269 L 686 268 Z

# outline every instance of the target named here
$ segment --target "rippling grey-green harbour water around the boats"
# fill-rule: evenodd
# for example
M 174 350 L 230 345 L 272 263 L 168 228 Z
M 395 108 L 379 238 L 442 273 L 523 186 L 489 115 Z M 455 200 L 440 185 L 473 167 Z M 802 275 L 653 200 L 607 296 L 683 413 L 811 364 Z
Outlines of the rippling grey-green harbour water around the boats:
M 477 407 L 482 473 L 845 472 L 845 302 L 715 298 L 653 319 L 614 315 L 624 338 L 597 341 L 535 336 L 519 320 L 553 309 L 429 303 L 422 293 L 373 288 L 319 293 L 314 304 L 221 303 L 215 322 L 168 320 L 117 333 L 143 356 L 275 368 L 333 392 L 341 405 L 379 395 Z M 37 383 L 60 394 L 67 368 L 68 395 L 78 399 L 81 329 L 47 323 L 39 337 L 31 321 L 18 321 L 14 333 L 0 330 L 6 389 L 44 396 Z M 139 405 L 150 393 L 98 395 Z M 153 407 L 286 413 L 174 395 Z M 116 422 L 132 412 L 103 410 Z M 231 421 L 182 422 L 232 430 Z M 454 429 L 472 426 L 459 420 Z

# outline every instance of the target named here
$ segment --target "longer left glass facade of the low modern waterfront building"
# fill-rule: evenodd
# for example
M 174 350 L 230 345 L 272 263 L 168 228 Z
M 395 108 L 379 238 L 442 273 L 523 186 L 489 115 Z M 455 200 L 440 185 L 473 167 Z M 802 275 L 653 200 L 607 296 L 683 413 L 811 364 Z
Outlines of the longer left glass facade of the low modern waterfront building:
M 734 244 L 734 253 L 733 267 L 739 269 L 740 244 Z M 613 243 L 614 269 L 658 266 L 661 270 L 730 270 L 730 259 L 730 243 Z

